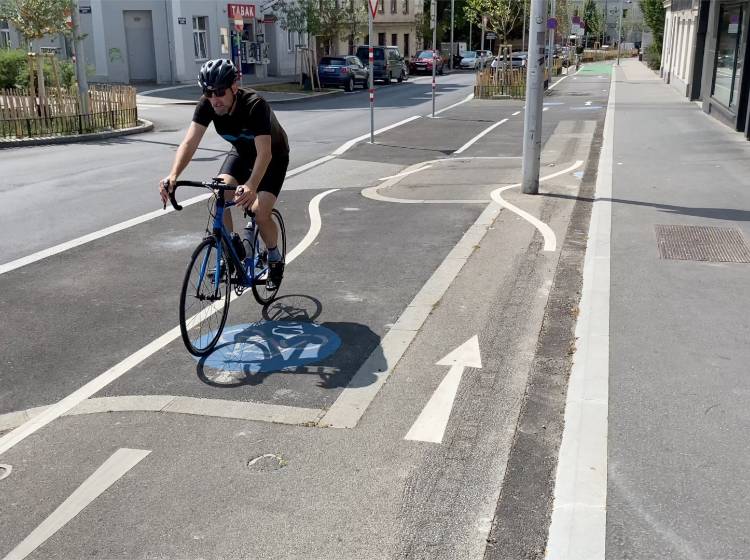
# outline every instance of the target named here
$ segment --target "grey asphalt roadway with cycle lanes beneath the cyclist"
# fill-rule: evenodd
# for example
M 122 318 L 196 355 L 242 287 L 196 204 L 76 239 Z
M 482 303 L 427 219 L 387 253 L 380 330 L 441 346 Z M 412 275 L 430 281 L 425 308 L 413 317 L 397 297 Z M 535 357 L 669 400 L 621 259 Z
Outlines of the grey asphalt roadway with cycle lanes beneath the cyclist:
M 439 107 L 469 80 L 443 78 Z M 484 555 L 608 81 L 570 78 L 546 99 L 542 173 L 563 196 L 502 195 L 549 225 L 549 251 L 489 202 L 520 178 L 523 103 L 427 119 L 429 91 L 426 79 L 381 88 L 376 126 L 422 117 L 288 181 L 279 208 L 299 257 L 274 304 L 233 300 L 216 356 L 197 361 L 174 335 L 205 203 L 0 275 L 0 461 L 12 466 L 0 554 L 31 536 L 32 558 Z M 159 109 L 156 131 L 135 138 L 0 153 L 2 262 L 154 210 L 190 111 Z M 367 111 L 362 93 L 280 106 L 292 167 L 367 132 Z M 220 142 L 190 175 L 216 169 Z M 420 162 L 431 167 L 383 186 Z M 459 347 L 468 354 L 446 362 Z M 436 439 L 408 438 L 452 366 L 453 413 L 442 431 L 431 417 Z M 10 428 L 73 401 L 75 414 L 9 444 Z M 89 498 L 71 515 L 81 485 Z M 35 532 L 48 516 L 62 529 Z

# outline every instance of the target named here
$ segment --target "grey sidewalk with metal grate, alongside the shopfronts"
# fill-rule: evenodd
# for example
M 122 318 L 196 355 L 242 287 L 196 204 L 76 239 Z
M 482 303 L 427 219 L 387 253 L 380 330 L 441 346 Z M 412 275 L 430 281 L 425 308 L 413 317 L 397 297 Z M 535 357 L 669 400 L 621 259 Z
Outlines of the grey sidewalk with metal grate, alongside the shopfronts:
M 606 558 L 748 558 L 750 145 L 636 60 L 615 79 L 612 194 L 600 164 L 596 203 L 611 208 L 611 243 L 601 229 L 589 240 L 611 259 L 599 284 L 609 290 Z M 605 127 L 603 153 L 607 143 Z M 602 352 L 593 336 L 579 348 L 588 343 L 588 358 Z M 594 385 L 581 397 L 592 406 Z M 579 449 L 577 472 L 586 461 L 596 463 Z M 548 557 L 604 556 L 557 552 Z

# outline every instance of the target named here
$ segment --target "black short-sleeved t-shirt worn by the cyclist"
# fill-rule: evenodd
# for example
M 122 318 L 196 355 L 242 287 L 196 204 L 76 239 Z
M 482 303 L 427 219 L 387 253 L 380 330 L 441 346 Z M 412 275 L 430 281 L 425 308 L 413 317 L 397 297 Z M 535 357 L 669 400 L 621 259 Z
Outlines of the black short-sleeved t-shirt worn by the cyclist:
M 208 126 L 212 122 L 219 136 L 235 147 L 243 158 L 255 161 L 255 137 L 271 135 L 271 156 L 289 157 L 289 141 L 281 128 L 276 115 L 265 99 L 252 89 L 237 91 L 237 104 L 232 114 L 219 116 L 211 107 L 211 102 L 201 97 L 195 107 L 193 122 Z

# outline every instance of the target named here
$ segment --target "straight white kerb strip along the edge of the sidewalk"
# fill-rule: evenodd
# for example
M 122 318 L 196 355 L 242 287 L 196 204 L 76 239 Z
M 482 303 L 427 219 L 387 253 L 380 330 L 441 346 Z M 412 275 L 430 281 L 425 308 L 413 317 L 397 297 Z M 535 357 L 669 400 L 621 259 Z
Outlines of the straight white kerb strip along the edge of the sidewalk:
M 565 403 L 545 556 L 549 560 L 605 557 L 615 84 L 613 79 L 583 266 L 577 350 Z

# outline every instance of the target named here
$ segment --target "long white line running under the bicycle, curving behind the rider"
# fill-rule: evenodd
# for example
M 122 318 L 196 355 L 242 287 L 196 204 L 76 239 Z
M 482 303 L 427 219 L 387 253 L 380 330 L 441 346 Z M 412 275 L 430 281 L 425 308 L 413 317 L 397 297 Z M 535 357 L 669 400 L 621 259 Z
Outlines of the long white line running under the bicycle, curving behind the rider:
M 337 190 L 338 189 L 331 189 L 322 192 L 316 195 L 310 201 L 310 229 L 308 230 L 307 235 L 305 235 L 302 241 L 300 241 L 299 244 L 287 255 L 287 264 L 291 264 L 292 261 L 294 261 L 302 253 L 302 251 L 307 249 L 315 240 L 315 237 L 318 235 L 321 228 L 320 201 L 323 199 L 323 197 Z M 200 321 L 205 320 L 207 317 L 210 317 L 213 313 L 215 313 L 221 305 L 223 305 L 223 301 L 216 302 L 207 310 L 198 313 L 188 319 L 188 321 L 186 321 L 187 324 L 195 325 Z M 206 315 L 207 312 L 208 315 Z M 0 455 L 11 449 L 17 443 L 23 441 L 26 437 L 30 436 L 40 428 L 43 428 L 50 422 L 54 421 L 55 419 L 71 410 L 73 407 L 88 399 L 90 396 L 94 395 L 95 393 L 112 383 L 114 380 L 130 371 L 132 368 L 140 364 L 143 360 L 152 356 L 153 354 L 164 348 L 167 344 L 177 339 L 179 336 L 180 327 L 178 325 L 177 327 L 161 335 L 156 340 L 150 342 L 134 354 L 131 354 L 120 363 L 112 366 L 110 369 L 108 369 L 98 377 L 92 379 L 58 403 L 47 407 L 38 415 L 27 420 L 22 425 L 15 428 L 13 431 L 5 434 L 2 438 L 0 438 Z

